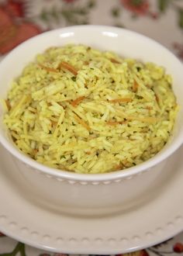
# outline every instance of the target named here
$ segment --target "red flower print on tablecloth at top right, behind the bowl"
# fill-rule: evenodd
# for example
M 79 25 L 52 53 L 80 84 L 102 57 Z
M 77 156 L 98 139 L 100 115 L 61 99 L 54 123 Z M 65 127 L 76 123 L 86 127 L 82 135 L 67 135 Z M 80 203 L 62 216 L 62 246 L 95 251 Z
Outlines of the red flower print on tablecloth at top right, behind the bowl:
M 148 0 L 120 0 L 123 6 L 136 15 L 146 15 L 149 11 L 150 3 Z

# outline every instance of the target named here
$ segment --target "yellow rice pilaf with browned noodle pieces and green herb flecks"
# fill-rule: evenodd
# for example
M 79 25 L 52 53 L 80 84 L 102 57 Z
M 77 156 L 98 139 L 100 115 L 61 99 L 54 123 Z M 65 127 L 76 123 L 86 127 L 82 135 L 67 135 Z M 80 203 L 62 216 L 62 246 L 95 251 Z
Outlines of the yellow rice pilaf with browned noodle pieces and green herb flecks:
M 22 152 L 50 167 L 103 173 L 164 147 L 178 110 L 163 67 L 84 45 L 51 47 L 12 81 L 4 123 Z

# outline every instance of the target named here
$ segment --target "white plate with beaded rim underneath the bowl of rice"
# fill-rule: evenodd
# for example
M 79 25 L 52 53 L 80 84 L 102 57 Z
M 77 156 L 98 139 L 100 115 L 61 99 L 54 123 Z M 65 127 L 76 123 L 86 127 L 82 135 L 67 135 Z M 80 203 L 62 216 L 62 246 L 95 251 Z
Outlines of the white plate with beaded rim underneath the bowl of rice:
M 118 254 L 150 247 L 183 230 L 183 147 L 169 158 L 154 190 L 143 195 L 142 205 L 93 218 L 66 216 L 36 205 L 22 192 L 22 177 L 12 157 L 2 147 L 0 155 L 0 230 L 33 247 Z

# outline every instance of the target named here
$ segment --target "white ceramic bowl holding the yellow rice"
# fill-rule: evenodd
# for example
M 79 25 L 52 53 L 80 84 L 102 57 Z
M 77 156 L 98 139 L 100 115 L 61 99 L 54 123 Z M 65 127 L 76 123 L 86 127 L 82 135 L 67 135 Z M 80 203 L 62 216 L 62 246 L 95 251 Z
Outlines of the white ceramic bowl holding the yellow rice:
M 31 194 L 32 199 L 42 206 L 65 213 L 114 213 L 140 203 L 140 195 L 148 195 L 148 189 L 154 189 L 161 171 L 166 171 L 164 160 L 183 142 L 183 67 L 169 50 L 138 33 L 111 26 L 71 26 L 35 36 L 5 57 L 0 64 L 1 97 L 5 98 L 12 79 L 36 54 L 66 43 L 83 43 L 140 61 L 151 61 L 164 66 L 173 77 L 173 89 L 180 106 L 173 137 L 156 156 L 125 171 L 84 175 L 39 164 L 12 144 L 2 124 L 1 110 L 0 141 L 16 159 L 16 169 L 24 179 L 25 195 Z

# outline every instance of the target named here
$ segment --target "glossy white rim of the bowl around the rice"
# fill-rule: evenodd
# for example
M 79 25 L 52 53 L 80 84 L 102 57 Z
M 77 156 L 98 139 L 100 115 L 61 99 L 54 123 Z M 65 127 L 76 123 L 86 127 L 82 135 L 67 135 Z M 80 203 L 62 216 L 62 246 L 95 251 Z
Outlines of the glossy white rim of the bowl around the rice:
M 167 54 L 171 56 L 171 58 L 177 62 L 177 64 L 182 65 L 181 61 L 178 60 L 178 57 L 175 57 L 173 53 L 171 53 L 170 50 L 168 50 L 166 47 L 164 47 L 161 43 L 158 43 L 157 41 L 151 39 L 148 36 L 144 36 L 143 34 L 136 33 L 133 30 L 130 29 L 123 29 L 118 28 L 116 26 L 101 26 L 101 25 L 78 25 L 78 26 L 67 26 L 60 29 L 52 29 L 50 31 L 40 33 L 39 35 L 33 36 L 29 40 L 24 41 L 23 43 L 20 43 L 17 47 L 15 47 L 7 56 L 0 62 L 0 70 L 2 66 L 6 63 L 11 61 L 11 58 L 13 54 L 16 53 L 16 50 L 21 50 L 22 47 L 28 45 L 29 43 L 32 43 L 35 40 L 40 39 L 41 37 L 47 37 L 51 34 L 57 34 L 57 33 L 64 33 L 68 32 L 69 30 L 78 30 L 78 29 L 98 29 L 98 31 L 102 32 L 104 29 L 108 29 L 109 31 L 112 31 L 112 33 L 126 33 L 129 35 L 140 37 L 143 40 L 146 40 L 149 43 L 153 43 L 154 45 L 157 45 L 157 47 L 160 47 L 161 49 L 164 49 L 167 51 Z M 174 144 L 171 144 L 170 147 L 167 147 L 165 150 L 158 152 L 154 157 L 151 157 L 149 160 L 144 161 L 142 164 L 137 164 L 134 167 L 126 168 L 124 170 L 120 171 L 111 171 L 108 173 L 98 173 L 98 174 L 82 174 L 77 172 L 71 172 L 71 171 L 64 171 L 64 170 L 58 170 L 57 168 L 50 168 L 44 164 L 40 164 L 39 162 L 33 160 L 32 158 L 26 156 L 26 154 L 22 153 L 16 146 L 13 146 L 9 140 L 7 140 L 2 133 L 0 133 L 0 143 L 8 150 L 14 157 L 19 159 L 19 161 L 23 162 L 24 164 L 27 164 L 30 168 L 36 169 L 46 175 L 54 176 L 56 178 L 64 178 L 74 181 L 81 181 L 81 182 L 105 182 L 109 180 L 117 180 L 122 178 L 129 178 L 133 175 L 138 175 L 143 171 L 150 171 L 151 168 L 153 168 L 155 165 L 160 164 L 161 161 L 164 161 L 167 157 L 169 157 L 171 154 L 174 153 L 175 150 L 178 150 L 179 147 L 181 147 L 181 144 L 183 143 L 183 131 L 181 135 L 178 137 L 178 140 L 174 142 Z M 35 170 L 35 171 L 36 171 Z

